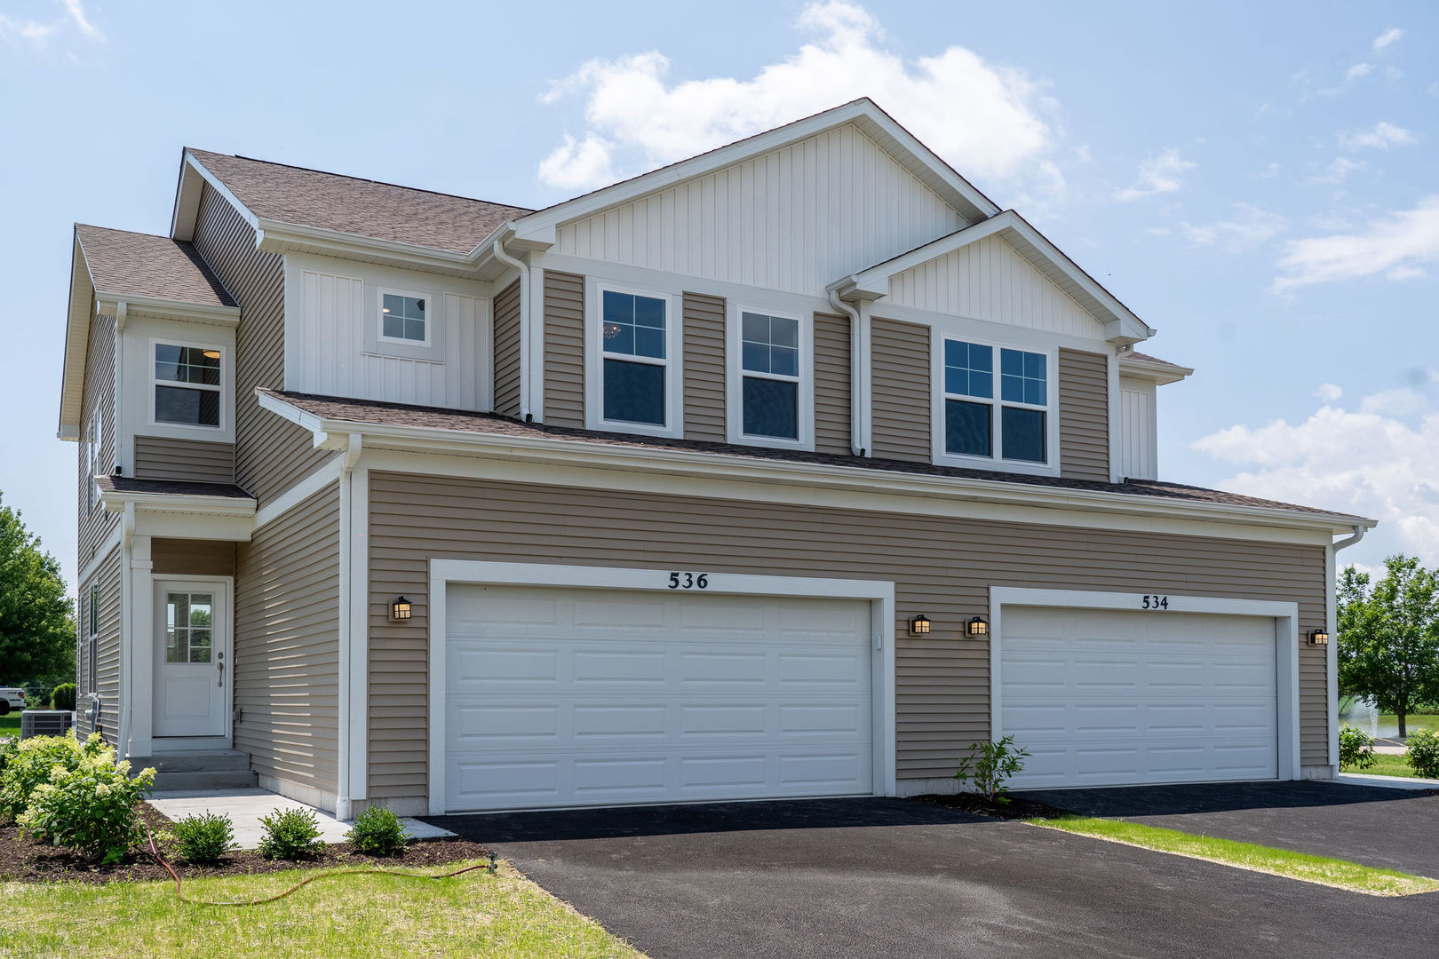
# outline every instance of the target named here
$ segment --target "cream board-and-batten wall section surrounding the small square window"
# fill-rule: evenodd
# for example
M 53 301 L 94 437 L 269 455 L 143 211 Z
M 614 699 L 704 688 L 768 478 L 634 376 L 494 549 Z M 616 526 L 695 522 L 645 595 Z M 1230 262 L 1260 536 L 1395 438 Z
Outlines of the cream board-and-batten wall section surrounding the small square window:
M 429 345 L 378 339 L 380 290 L 426 300 Z M 491 410 L 491 300 L 485 283 L 285 256 L 285 388 L 452 410 Z

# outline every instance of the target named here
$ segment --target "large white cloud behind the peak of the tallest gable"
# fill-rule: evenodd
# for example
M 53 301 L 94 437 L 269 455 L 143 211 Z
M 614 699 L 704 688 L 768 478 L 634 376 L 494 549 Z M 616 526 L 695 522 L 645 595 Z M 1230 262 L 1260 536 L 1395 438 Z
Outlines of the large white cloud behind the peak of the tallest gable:
M 671 82 L 669 59 L 658 50 L 584 63 L 540 98 L 583 98 L 587 125 L 541 162 L 540 178 L 599 187 L 871 96 L 966 175 L 1043 178 L 1046 188 L 1062 188 L 1046 157 L 1053 131 L 1039 115 L 1050 104 L 1023 72 L 961 46 L 905 60 L 884 46 L 875 17 L 842 0 L 810 3 L 799 26 L 814 39 L 750 79 Z

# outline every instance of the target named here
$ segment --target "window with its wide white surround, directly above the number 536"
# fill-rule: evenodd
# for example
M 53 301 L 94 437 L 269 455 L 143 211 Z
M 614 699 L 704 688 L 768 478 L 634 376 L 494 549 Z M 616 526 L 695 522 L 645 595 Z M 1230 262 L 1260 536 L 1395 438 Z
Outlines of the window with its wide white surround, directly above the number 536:
M 596 283 L 586 313 L 586 423 L 681 436 L 678 296 Z

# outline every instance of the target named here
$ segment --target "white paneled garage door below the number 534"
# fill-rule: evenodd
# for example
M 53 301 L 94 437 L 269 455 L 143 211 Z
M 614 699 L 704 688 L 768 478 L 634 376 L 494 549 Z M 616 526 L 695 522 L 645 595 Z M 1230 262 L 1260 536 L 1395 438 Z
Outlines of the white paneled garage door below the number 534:
M 1272 618 L 1004 607 L 1017 788 L 1274 779 Z

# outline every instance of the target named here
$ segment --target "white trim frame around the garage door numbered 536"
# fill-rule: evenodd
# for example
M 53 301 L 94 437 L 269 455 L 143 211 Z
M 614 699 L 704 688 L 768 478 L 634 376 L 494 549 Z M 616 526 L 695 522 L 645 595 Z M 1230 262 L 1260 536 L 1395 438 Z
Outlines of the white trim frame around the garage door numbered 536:
M 698 571 L 695 571 L 698 572 Z M 869 600 L 872 648 L 871 702 L 875 722 L 875 794 L 895 795 L 895 585 L 885 579 L 826 579 L 708 572 L 705 589 L 675 589 L 668 569 L 571 566 L 561 564 L 430 559 L 429 581 L 429 814 L 445 815 L 445 647 L 449 584 L 566 587 L 574 589 L 643 589 L 715 595 Z

